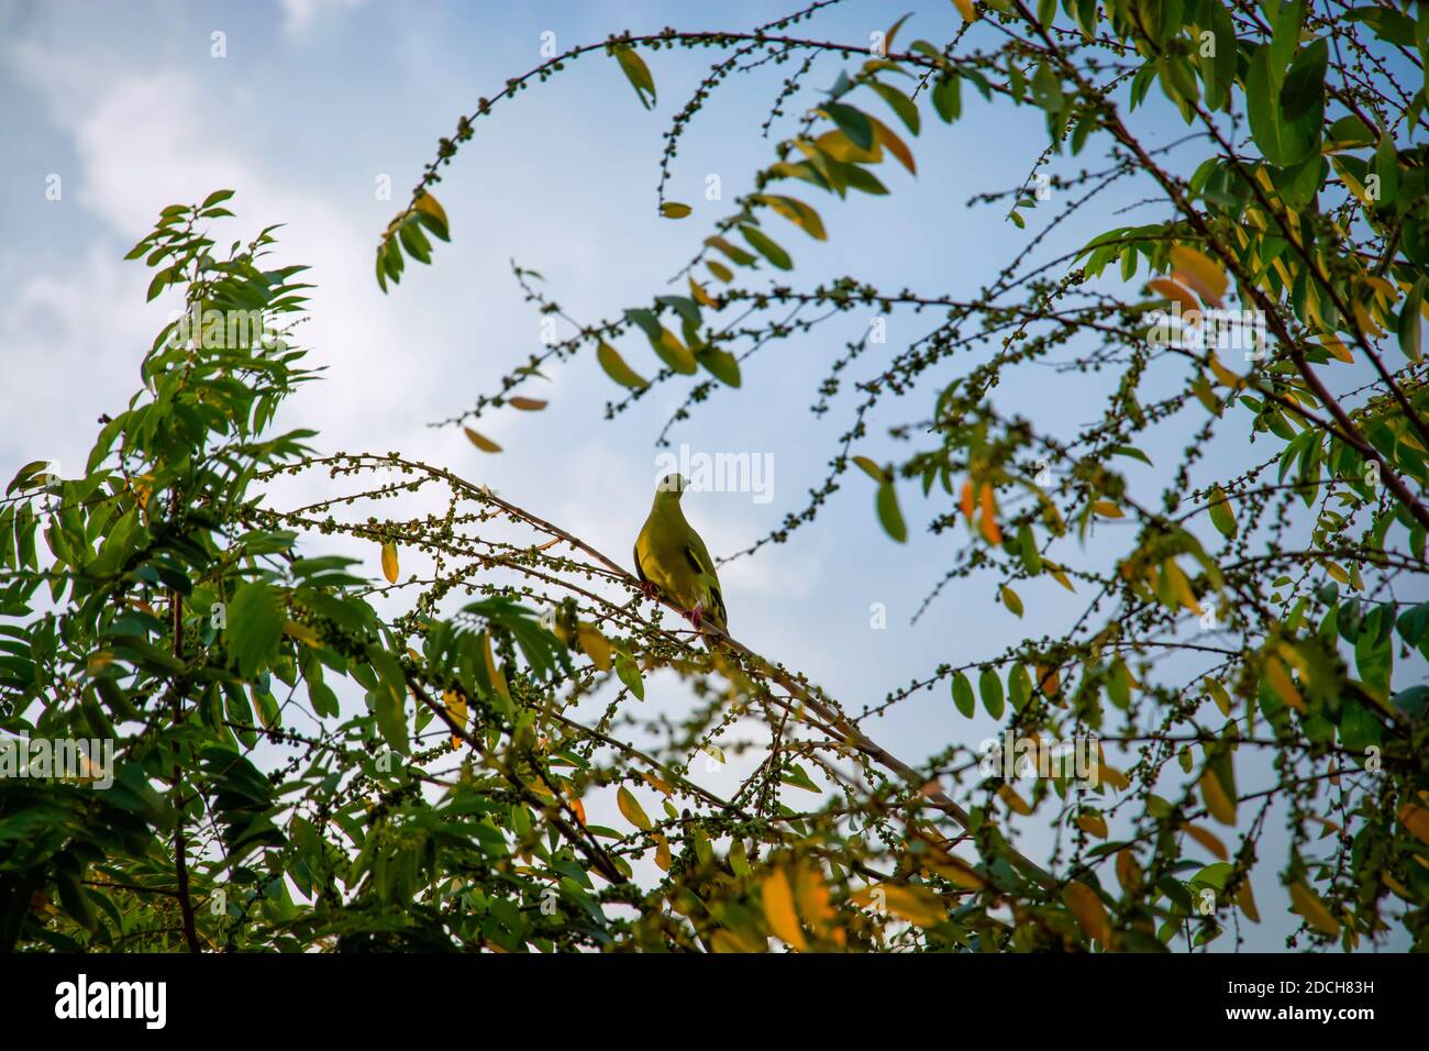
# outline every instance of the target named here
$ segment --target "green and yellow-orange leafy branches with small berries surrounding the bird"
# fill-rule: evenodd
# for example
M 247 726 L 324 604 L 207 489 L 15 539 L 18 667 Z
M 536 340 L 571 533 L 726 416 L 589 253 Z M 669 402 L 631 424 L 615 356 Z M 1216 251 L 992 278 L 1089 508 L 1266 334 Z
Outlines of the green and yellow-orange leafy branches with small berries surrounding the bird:
M 434 187 L 480 119 L 582 56 L 613 57 L 652 107 L 660 53 L 720 53 L 666 137 L 656 204 L 682 222 L 703 220 L 663 190 L 709 96 L 800 63 L 767 129 L 827 71 L 700 239 L 687 296 L 583 323 L 517 269 L 573 335 L 449 423 L 497 453 L 477 418 L 546 408 L 517 389 L 593 353 L 612 416 L 682 386 L 673 426 L 717 386 L 739 396 L 766 346 L 939 312 L 900 349 L 845 345 L 815 409 L 839 410 L 847 386 L 856 406 L 823 486 L 735 556 L 796 542 L 846 483 L 895 542 L 916 499 L 956 542 L 926 602 L 990 579 L 1030 631 L 1019 588 L 1050 578 L 1082 615 L 853 714 L 707 626 L 706 652 L 627 568 L 453 472 L 272 435 L 313 379 L 283 330 L 170 326 L 84 476 L 30 465 L 0 512 L 0 726 L 116 742 L 110 788 L 0 781 L 4 944 L 1135 951 L 1206 945 L 1265 908 L 1298 914 L 1296 944 L 1403 931 L 1425 947 L 1429 187 L 1413 140 L 1429 11 L 957 0 L 869 54 L 806 33 L 830 1 L 749 33 L 623 34 L 509 80 L 440 143 L 377 280 L 392 290 L 406 260 L 433 262 L 427 235 L 453 236 Z M 920 23 L 942 36 L 903 44 Z M 972 104 L 1046 120 L 1026 183 L 985 200 L 1025 230 L 1016 257 L 969 299 L 795 283 L 800 239 L 827 237 L 820 209 L 895 193 L 912 143 L 956 136 Z M 1145 144 L 1177 114 L 1183 139 Z M 1100 169 L 1062 173 L 1096 152 Z M 1129 184 L 1153 187 L 1160 219 L 1040 250 Z M 300 312 L 302 267 L 262 269 L 269 233 L 216 262 L 226 196 L 167 209 L 136 246 L 150 297 L 181 287 L 200 317 Z M 1206 335 L 1218 312 L 1249 322 L 1246 346 Z M 999 385 L 1036 365 L 1115 378 L 1099 419 L 1059 435 L 999 409 Z M 896 462 L 863 452 L 879 413 L 897 415 Z M 1139 470 L 1166 433 L 1189 435 L 1179 462 Z M 1263 459 L 1216 470 L 1203 450 L 1226 435 Z M 289 473 L 329 493 L 284 508 Z M 402 518 L 417 493 L 444 516 Z M 324 538 L 370 545 L 386 582 Z M 409 551 L 430 578 L 403 575 Z M 692 706 L 650 745 L 632 708 L 664 672 Z M 905 764 L 863 722 L 927 689 L 982 706 L 1035 759 L 1095 735 L 1096 775 L 1050 766 L 1027 789 L 960 744 Z M 579 719 L 593 695 L 602 716 Z M 294 729 L 297 712 L 319 729 Z M 760 762 L 720 796 L 702 765 L 733 749 Z M 597 794 L 622 827 L 586 821 Z M 1289 838 L 1270 859 L 1273 814 Z M 1057 828 L 1052 857 L 1015 845 L 1032 824 Z M 1255 899 L 1256 865 L 1280 901 Z

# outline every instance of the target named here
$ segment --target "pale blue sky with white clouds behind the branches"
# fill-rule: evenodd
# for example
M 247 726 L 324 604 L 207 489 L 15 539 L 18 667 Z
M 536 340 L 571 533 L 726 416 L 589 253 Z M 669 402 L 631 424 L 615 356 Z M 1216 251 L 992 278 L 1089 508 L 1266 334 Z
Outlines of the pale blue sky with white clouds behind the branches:
M 902 30 L 905 43 L 917 36 L 942 41 L 957 23 L 949 3 L 867 0 L 832 9 L 813 31 L 866 46 L 869 33 L 887 29 L 909 9 L 917 13 Z M 556 33 L 564 49 L 622 29 L 752 27 L 775 13 L 767 3 L 574 0 L 0 3 L 0 97 L 7 100 L 0 116 L 0 463 L 83 462 L 94 418 L 137 386 L 143 350 L 176 306 L 146 306 L 149 275 L 121 256 L 164 204 L 230 187 L 237 190 L 230 207 L 239 217 L 229 220 L 220 240 L 287 223 L 277 259 L 312 265 L 319 286 L 302 339 L 329 366 L 327 379 L 294 399 L 290 426 L 317 426 L 323 449 L 400 449 L 449 466 L 627 561 L 649 508 L 653 440 L 683 399 L 683 383 L 606 423 L 602 406 L 617 389 L 594 362 L 557 367 L 550 383 L 526 392 L 549 399 L 544 413 L 496 413 L 479 425 L 506 446 L 500 456 L 482 456 L 459 430 L 427 425 L 493 390 L 503 372 L 539 346 L 539 319 L 510 279 L 510 259 L 540 270 L 549 293 L 584 322 L 683 290 L 664 282 L 770 160 L 773 140 L 762 139 L 759 126 L 796 66 L 736 76 L 697 114 L 669 190 L 696 207 L 690 219 L 669 222 L 654 212 L 662 134 L 714 54 L 647 54 L 659 86 L 654 113 L 640 107 L 616 63 L 597 54 L 479 122 L 474 140 L 437 187 L 453 243 L 439 246 L 434 266 L 409 266 L 403 283 L 383 296 L 373 282 L 373 246 L 437 137 L 479 97 L 536 66 L 542 33 Z M 226 57 L 211 54 L 214 33 L 223 34 Z M 840 67 L 837 57 L 822 60 L 789 113 L 813 104 L 813 89 L 830 84 Z M 976 295 L 1029 233 L 1006 223 L 996 206 L 965 204 L 975 193 L 1020 184 L 1045 144 L 1045 129 L 1035 110 L 975 99 L 966 93 L 966 116 L 952 130 L 926 114 L 915 144 L 919 174 L 887 166 L 890 197 L 813 202 L 829 242 L 816 246 L 793 232 L 782 237 L 797 252 L 790 283 L 812 287 L 855 273 L 883 287 Z M 1152 144 L 1183 133 L 1165 107 L 1152 106 L 1150 113 L 1143 132 Z M 775 134 L 786 133 L 789 122 L 776 124 Z M 1100 163 L 1085 156 L 1060 170 Z M 725 203 L 703 200 L 710 173 L 722 177 Z M 60 200 L 46 199 L 53 174 L 61 179 Z M 392 200 L 377 199 L 383 177 L 390 177 Z M 1150 209 L 1113 214 L 1143 196 L 1123 184 L 1056 232 L 1049 250 L 1160 217 Z M 773 456 L 767 503 L 749 493 L 686 496 L 686 513 L 717 556 L 802 509 L 809 488 L 822 480 L 855 402 L 845 393 L 823 418 L 807 406 L 829 362 L 866 323 L 850 315 L 842 325 L 769 347 L 746 363 L 737 395 L 717 393 L 672 432 L 676 443 L 689 442 L 694 450 Z M 889 349 L 936 323 L 933 315 L 890 317 Z M 647 349 L 622 349 L 637 369 L 653 372 Z M 862 378 L 876 366 L 866 356 L 853 372 Z M 1046 369 L 1027 372 L 999 389 L 999 405 L 1063 436 L 1096 418 L 1097 396 L 1110 382 L 1077 378 L 1073 386 Z M 856 452 L 890 459 L 895 446 L 886 428 L 925 412 L 933 383 L 952 375 L 939 372 L 915 400 L 875 418 Z M 1177 436 L 1165 439 L 1165 462 L 1180 448 Z M 1157 448 L 1147 452 L 1163 462 Z M 1259 459 L 1252 452 L 1263 455 L 1222 448 L 1209 468 Z M 1129 475 L 1136 479 L 1142 470 L 1140 479 L 1159 488 L 1163 479 L 1153 469 Z M 912 539 L 895 546 L 873 516 L 872 488 L 862 482 L 862 475 L 850 475 L 826 513 L 793 543 L 765 548 L 722 571 L 735 635 L 806 671 L 850 709 L 876 704 L 942 661 L 992 655 L 1029 629 L 1056 633 L 1079 612 L 1076 599 L 1043 581 L 1022 589 L 1029 615 L 1019 622 L 993 602 L 995 582 L 985 578 L 945 593 L 910 626 L 930 582 L 950 561 L 952 541 L 922 531 L 940 508 L 922 503 L 909 486 Z M 1093 538 L 1093 556 L 1097 545 Z M 363 555 L 376 573 L 376 552 Z M 887 608 L 882 631 L 870 628 L 877 602 Z M 652 706 L 679 711 L 679 685 L 667 684 L 664 694 Z M 977 742 L 992 724 L 962 719 L 939 686 L 866 729 L 916 761 L 952 741 Z M 1025 845 L 1036 854 L 1047 842 L 1033 831 Z M 1278 948 L 1289 929 L 1275 877 L 1280 854 L 1273 842 L 1262 851 L 1256 892 L 1266 924 L 1250 929 L 1252 947 Z

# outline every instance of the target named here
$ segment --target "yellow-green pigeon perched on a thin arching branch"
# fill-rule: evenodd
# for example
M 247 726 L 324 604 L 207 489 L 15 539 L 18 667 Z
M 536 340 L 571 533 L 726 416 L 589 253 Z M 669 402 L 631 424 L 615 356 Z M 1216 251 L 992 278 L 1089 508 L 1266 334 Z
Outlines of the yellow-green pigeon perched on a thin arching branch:
M 664 595 L 684 611 L 696 631 L 707 621 L 727 635 L 729 613 L 714 559 L 680 510 L 687 486 L 683 475 L 666 475 L 656 485 L 650 516 L 634 541 L 634 572 L 646 595 Z M 709 635 L 704 645 L 713 649 Z

